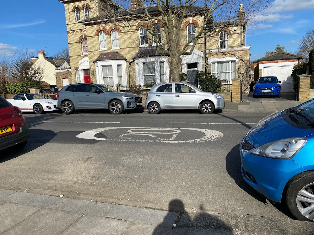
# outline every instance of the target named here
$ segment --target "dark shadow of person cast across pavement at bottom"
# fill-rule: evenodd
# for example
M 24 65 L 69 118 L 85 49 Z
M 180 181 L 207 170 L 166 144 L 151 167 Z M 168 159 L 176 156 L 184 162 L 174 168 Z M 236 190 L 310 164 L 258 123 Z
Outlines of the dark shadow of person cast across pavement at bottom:
M 152 235 L 184 235 L 190 234 L 190 229 L 193 229 L 191 234 L 195 235 L 205 234 L 205 229 L 215 229 L 215 232 L 223 232 L 224 235 L 233 235 L 232 228 L 221 220 L 219 214 L 208 214 L 203 209 L 203 206 L 200 206 L 200 210 L 200 213 L 190 215 L 186 212 L 181 200 L 175 199 L 170 201 L 168 214 L 165 216 L 164 221 L 154 229 Z

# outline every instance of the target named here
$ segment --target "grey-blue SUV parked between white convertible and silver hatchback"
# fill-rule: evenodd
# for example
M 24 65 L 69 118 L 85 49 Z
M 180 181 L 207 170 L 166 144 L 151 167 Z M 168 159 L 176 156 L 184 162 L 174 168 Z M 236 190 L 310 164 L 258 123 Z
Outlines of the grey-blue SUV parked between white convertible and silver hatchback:
M 75 109 L 109 109 L 112 114 L 121 114 L 125 109 L 142 107 L 141 96 L 93 83 L 67 85 L 57 93 L 57 98 L 64 114 L 72 114 Z

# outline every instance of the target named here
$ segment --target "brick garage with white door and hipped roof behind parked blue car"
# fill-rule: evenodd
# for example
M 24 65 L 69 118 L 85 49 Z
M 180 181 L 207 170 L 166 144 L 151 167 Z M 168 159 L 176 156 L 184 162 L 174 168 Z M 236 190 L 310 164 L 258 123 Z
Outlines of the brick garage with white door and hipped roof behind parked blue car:
M 276 76 L 281 81 L 281 91 L 293 91 L 292 70 L 300 64 L 302 57 L 290 53 L 277 52 L 254 60 L 254 81 L 262 76 Z

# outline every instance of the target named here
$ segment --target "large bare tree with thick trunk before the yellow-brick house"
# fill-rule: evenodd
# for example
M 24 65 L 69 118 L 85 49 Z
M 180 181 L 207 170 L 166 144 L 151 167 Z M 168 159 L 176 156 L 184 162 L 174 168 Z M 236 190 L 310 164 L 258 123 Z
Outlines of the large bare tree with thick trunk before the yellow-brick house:
M 99 0 L 94 0 L 99 3 Z M 103 24 L 118 25 L 122 28 L 138 26 L 145 29 L 155 42 L 159 41 L 160 32 L 163 41 L 156 43 L 157 53 L 170 55 L 170 81 L 179 81 L 181 73 L 181 55 L 191 55 L 198 40 L 216 35 L 228 27 L 240 27 L 258 20 L 256 15 L 271 5 L 271 0 L 116 0 L 101 1 Z M 242 3 L 244 8 L 235 14 Z M 132 10 L 138 8 L 138 10 Z M 205 6 L 205 7 L 203 7 Z M 194 38 L 182 40 L 180 29 L 191 18 L 201 18 L 202 23 L 195 32 Z M 215 22 L 214 22 L 215 21 Z M 154 23 L 161 22 L 163 28 L 154 29 Z

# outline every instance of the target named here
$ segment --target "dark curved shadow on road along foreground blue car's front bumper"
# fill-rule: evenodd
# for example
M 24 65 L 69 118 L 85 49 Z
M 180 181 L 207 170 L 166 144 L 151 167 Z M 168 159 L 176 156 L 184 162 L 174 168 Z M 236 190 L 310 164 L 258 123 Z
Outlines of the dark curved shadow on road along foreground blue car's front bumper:
M 239 154 L 239 146 L 237 144 L 233 147 L 230 152 L 226 156 L 226 170 L 230 177 L 235 181 L 236 185 L 238 185 L 242 190 L 246 191 L 256 200 L 267 203 L 266 199 L 258 194 L 250 185 L 248 185 L 242 178 L 241 173 L 241 157 Z

